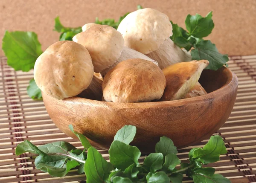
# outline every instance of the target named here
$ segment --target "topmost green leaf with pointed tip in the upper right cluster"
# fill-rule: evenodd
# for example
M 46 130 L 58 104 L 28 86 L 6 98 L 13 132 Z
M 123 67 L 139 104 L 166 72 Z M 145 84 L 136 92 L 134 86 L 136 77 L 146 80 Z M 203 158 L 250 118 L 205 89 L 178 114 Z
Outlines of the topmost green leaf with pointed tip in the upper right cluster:
M 204 38 L 208 36 L 214 28 L 212 20 L 212 12 L 209 12 L 206 17 L 202 17 L 199 14 L 188 15 L 185 20 L 186 29 L 189 31 L 189 35 L 193 35 L 197 38 Z

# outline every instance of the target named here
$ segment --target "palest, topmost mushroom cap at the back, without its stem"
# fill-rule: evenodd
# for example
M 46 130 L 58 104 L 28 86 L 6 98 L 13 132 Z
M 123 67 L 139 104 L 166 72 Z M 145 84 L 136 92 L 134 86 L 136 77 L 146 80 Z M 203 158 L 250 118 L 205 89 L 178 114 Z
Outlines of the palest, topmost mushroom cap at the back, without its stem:
M 167 15 L 151 8 L 128 14 L 117 30 L 121 32 L 125 46 L 143 54 L 157 50 L 172 36 L 172 24 Z

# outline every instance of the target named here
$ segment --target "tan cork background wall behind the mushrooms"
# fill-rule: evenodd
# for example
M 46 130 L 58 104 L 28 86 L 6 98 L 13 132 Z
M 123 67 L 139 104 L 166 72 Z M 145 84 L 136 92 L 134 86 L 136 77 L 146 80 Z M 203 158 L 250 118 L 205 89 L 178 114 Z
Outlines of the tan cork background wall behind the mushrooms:
M 59 33 L 52 31 L 57 16 L 64 26 L 83 26 L 95 17 L 117 20 L 138 4 L 165 13 L 183 28 L 187 14 L 213 11 L 215 28 L 207 39 L 221 53 L 256 54 L 256 0 L 0 0 L 0 40 L 5 30 L 34 31 L 45 50 L 58 41 Z

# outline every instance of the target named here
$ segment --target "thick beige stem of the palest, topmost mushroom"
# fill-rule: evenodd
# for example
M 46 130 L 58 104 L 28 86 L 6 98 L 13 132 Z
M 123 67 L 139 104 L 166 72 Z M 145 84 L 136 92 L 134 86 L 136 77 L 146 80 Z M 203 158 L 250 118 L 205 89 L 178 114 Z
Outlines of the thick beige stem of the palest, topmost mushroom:
M 181 49 L 169 38 L 157 50 L 146 54 L 146 56 L 157 61 L 160 69 L 192 59 L 189 52 Z

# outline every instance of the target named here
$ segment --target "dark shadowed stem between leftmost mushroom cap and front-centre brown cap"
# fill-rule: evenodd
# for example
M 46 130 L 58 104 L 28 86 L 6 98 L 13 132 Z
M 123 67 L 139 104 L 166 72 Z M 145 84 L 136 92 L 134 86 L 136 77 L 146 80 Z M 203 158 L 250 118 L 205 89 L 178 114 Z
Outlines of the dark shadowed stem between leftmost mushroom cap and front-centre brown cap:
M 86 99 L 101 101 L 102 95 L 102 80 L 97 76 L 93 76 L 89 87 L 82 91 L 78 96 Z

